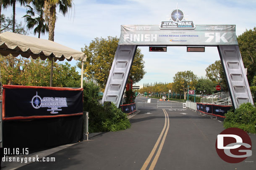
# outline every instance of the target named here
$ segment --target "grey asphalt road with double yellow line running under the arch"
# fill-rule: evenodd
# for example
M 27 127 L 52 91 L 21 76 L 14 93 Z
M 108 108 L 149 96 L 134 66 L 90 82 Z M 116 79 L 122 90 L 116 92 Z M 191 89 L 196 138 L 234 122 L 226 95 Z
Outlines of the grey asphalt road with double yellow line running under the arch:
M 18 170 L 255 169 L 256 135 L 249 134 L 252 156 L 230 164 L 215 150 L 223 122 L 187 109 L 140 110 L 130 119 L 130 129 L 97 134 L 47 156 L 55 162 L 33 162 Z

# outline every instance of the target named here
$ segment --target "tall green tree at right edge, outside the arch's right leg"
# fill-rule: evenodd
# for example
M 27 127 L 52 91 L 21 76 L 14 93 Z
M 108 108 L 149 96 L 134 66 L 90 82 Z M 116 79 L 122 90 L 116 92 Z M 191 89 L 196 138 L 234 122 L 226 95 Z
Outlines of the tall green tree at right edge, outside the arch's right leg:
M 256 76 L 256 27 L 246 30 L 238 36 L 238 46 L 243 58 L 244 67 L 247 68 L 247 79 L 249 85 Z

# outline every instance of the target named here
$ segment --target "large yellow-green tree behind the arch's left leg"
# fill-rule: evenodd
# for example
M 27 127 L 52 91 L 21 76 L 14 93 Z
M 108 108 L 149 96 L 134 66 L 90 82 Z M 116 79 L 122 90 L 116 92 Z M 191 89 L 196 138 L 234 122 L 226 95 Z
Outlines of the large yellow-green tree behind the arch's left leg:
M 95 38 L 89 46 L 82 48 L 82 51 L 87 55 L 84 75 L 88 79 L 96 80 L 102 88 L 107 84 L 115 51 L 118 47 L 118 41 L 119 39 L 117 37 L 111 36 L 107 38 Z M 140 81 L 146 73 L 144 71 L 143 57 L 144 55 L 141 54 L 141 50 L 137 49 L 129 75 L 134 84 Z M 78 67 L 81 68 L 81 62 L 78 63 Z M 145 84 L 144 86 L 147 85 Z

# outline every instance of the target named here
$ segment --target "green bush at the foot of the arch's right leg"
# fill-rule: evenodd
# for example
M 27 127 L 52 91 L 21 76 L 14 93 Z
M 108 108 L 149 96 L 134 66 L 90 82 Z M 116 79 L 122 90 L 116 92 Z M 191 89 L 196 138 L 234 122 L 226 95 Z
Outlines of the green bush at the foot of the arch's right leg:
M 243 103 L 235 111 L 225 114 L 224 127 L 238 127 L 246 132 L 256 133 L 256 107 L 251 103 Z

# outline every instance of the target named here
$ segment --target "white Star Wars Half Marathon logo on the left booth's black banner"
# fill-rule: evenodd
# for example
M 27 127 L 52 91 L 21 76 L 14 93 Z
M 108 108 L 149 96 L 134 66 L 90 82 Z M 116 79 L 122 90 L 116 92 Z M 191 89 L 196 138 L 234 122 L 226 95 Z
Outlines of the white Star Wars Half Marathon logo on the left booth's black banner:
M 68 107 L 67 98 L 65 97 L 43 97 L 43 99 L 36 94 L 31 102 L 32 107 L 39 109 L 41 107 L 47 107 L 47 111 L 50 111 L 51 114 L 57 114 L 57 111 L 62 111 L 62 107 Z

